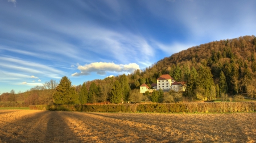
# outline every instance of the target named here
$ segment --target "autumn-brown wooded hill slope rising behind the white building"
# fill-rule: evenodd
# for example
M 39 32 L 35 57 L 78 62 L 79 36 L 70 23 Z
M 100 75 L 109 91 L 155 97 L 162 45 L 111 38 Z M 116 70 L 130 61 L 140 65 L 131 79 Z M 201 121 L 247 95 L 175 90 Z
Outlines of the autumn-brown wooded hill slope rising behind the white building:
M 220 73 L 223 71 L 228 93 L 244 93 L 246 86 L 254 85 L 249 80 L 255 79 L 255 48 L 255 36 L 213 41 L 164 58 L 146 68 L 143 74 L 152 76 L 160 71 L 160 75 L 169 73 L 177 81 L 188 81 L 192 67 L 197 71 L 200 67 L 208 67 L 213 75 L 214 84 L 220 83 Z

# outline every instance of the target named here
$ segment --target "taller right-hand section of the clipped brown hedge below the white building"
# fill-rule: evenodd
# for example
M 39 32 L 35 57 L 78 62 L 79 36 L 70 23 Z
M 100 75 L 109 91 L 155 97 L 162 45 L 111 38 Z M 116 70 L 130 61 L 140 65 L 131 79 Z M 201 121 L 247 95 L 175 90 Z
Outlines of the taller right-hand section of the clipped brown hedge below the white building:
M 139 112 L 252 112 L 256 102 L 169 103 L 138 105 Z

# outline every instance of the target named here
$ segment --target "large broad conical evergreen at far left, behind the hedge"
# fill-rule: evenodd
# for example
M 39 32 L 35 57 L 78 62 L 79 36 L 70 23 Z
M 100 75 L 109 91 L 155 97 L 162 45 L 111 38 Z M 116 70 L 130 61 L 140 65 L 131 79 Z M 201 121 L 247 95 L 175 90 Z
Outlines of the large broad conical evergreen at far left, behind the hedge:
M 62 77 L 60 84 L 55 88 L 53 102 L 59 105 L 75 104 L 77 99 L 76 89 L 72 87 L 67 76 Z

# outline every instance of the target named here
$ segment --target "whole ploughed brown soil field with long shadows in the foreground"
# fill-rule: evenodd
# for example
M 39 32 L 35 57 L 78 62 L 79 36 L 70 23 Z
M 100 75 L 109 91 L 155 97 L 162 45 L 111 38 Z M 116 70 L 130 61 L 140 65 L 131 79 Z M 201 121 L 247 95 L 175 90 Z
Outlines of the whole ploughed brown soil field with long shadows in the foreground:
M 0 142 L 255 142 L 256 113 L 0 110 Z

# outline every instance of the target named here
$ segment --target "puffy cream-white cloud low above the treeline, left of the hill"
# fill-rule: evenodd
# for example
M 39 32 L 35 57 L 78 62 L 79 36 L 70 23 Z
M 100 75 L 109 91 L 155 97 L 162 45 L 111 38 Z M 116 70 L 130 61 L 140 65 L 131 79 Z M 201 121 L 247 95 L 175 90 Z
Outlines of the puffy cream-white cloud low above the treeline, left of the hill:
M 73 73 L 71 76 L 90 75 L 91 72 L 96 72 L 98 75 L 105 75 L 106 72 L 134 72 L 139 69 L 139 65 L 136 63 L 130 64 L 115 64 L 106 62 L 96 62 L 86 64 L 85 66 L 78 66 L 78 70 L 81 73 Z

